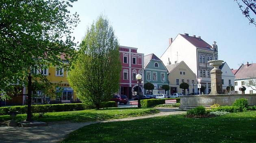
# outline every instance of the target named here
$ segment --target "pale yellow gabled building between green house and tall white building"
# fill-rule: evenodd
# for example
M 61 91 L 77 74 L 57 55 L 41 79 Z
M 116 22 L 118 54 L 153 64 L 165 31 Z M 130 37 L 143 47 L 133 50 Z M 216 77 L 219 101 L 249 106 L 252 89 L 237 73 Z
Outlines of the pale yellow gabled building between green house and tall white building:
M 168 80 L 170 94 L 183 93 L 183 89 L 180 89 L 180 84 L 182 82 L 187 82 L 189 84 L 189 88 L 185 92 L 186 95 L 189 93 L 197 93 L 196 75 L 184 61 L 176 64 L 166 65 L 166 68 L 169 71 Z

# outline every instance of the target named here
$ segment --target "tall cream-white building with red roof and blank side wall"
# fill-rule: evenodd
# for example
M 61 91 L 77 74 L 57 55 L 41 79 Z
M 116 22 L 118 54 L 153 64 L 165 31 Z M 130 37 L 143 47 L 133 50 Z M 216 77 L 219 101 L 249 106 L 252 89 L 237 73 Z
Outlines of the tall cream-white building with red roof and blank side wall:
M 213 67 L 207 62 L 218 59 L 216 42 L 211 46 L 200 36 L 178 34 L 173 41 L 169 39 L 169 46 L 160 59 L 166 65 L 184 61 L 197 78 L 202 78 L 201 85 L 206 87 L 204 93 L 210 93 L 210 70 Z

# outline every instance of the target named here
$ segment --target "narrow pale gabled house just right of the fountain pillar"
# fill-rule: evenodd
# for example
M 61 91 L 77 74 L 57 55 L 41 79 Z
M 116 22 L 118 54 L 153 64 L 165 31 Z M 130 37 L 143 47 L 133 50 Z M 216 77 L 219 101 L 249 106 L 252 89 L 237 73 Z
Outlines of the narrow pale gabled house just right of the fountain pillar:
M 235 76 L 234 76 L 233 72 L 230 70 L 230 67 L 228 66 L 228 64 L 226 62 L 222 63 L 222 65 L 219 66 L 219 69 L 221 69 L 221 71 L 222 71 L 222 74 L 221 74 L 222 90 L 223 90 L 223 93 L 227 93 L 226 88 L 229 85 L 234 86 Z M 231 90 L 231 93 L 234 93 L 234 91 L 232 92 L 232 90 Z

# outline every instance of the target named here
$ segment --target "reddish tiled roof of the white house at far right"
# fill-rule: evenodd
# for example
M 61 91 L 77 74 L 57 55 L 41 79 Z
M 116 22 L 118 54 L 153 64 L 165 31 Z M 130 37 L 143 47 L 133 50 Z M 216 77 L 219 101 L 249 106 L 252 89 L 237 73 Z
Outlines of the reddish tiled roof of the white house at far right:
M 256 63 L 241 65 L 235 73 L 235 79 L 256 77 Z

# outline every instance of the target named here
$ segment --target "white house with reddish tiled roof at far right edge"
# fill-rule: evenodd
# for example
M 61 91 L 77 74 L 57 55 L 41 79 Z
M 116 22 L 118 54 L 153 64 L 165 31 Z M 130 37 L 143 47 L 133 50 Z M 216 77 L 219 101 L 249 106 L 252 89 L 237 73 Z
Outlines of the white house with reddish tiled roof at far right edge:
M 252 82 L 252 84 L 255 84 L 256 81 L 256 63 L 249 64 L 247 62 L 246 65 L 241 65 L 239 69 L 233 70 L 235 79 L 234 79 L 234 90 L 237 93 L 241 93 L 239 88 L 242 86 L 245 86 L 245 94 L 252 94 L 256 93 L 256 90 L 253 90 L 251 87 L 248 87 L 246 84 Z M 254 79 L 253 79 L 254 78 Z M 253 79 L 253 80 L 252 80 Z M 253 88 L 256 88 L 256 85 L 253 86 Z

